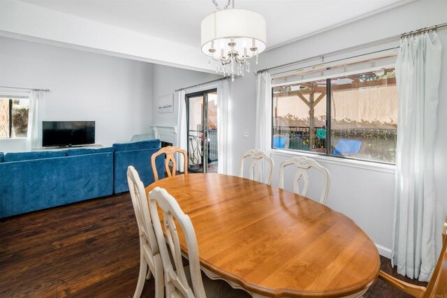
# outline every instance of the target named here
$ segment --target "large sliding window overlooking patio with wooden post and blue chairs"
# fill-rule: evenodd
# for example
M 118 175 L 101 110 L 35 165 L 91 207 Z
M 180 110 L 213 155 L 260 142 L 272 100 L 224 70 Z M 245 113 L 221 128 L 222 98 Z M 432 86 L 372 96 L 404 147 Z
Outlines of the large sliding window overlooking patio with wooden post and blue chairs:
M 273 148 L 395 163 L 394 68 L 272 89 Z

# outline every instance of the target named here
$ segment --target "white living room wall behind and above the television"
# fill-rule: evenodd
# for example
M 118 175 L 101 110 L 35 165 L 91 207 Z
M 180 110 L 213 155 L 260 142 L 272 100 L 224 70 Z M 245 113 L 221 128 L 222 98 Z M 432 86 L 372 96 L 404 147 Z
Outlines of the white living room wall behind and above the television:
M 50 89 L 43 120 L 94 120 L 96 143 L 150 133 L 152 64 L 0 37 L 0 86 Z M 24 151 L 22 140 L 0 151 Z

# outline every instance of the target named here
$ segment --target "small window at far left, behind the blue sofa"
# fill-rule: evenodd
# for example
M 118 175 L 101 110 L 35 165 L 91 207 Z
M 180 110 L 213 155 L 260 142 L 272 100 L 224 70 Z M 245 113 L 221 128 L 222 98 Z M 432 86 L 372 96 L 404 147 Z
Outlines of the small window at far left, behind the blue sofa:
M 27 137 L 29 98 L 0 94 L 0 139 Z

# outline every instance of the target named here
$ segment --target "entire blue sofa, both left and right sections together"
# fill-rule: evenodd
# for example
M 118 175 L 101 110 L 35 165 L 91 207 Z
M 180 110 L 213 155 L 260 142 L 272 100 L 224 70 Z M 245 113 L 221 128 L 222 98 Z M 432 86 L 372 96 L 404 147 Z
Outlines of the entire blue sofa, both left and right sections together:
M 145 186 L 154 181 L 151 156 L 160 140 L 100 149 L 0 152 L 0 218 L 129 191 L 127 167 Z M 156 158 L 164 177 L 164 156 Z

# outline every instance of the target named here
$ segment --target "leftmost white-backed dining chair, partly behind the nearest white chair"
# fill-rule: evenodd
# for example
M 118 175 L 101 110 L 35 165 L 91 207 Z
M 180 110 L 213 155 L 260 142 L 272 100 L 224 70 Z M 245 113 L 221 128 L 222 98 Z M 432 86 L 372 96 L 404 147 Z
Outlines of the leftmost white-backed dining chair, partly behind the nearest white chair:
M 138 236 L 140 237 L 140 273 L 138 274 L 137 288 L 133 298 L 140 297 L 145 285 L 145 279 L 149 279 L 151 275 L 155 278 L 155 297 L 162 298 L 164 295 L 164 281 L 159 245 L 156 241 L 149 214 L 145 186 L 132 165 L 127 168 L 127 183 L 129 184 L 133 211 L 135 211 L 135 218 L 138 224 Z M 147 271 L 148 267 L 149 271 Z

